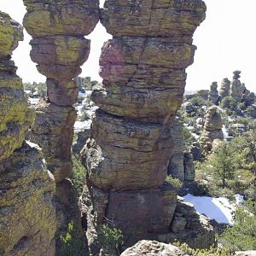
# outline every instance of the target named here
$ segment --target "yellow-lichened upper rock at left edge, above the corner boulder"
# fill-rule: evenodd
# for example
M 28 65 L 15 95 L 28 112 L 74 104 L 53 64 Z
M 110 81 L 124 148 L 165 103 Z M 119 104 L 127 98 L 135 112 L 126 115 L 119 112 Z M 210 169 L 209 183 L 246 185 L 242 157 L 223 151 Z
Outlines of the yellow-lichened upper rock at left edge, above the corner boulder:
M 23 40 L 22 26 L 0 12 L 0 161 L 20 148 L 32 123 L 21 79 L 16 75 L 12 51 Z

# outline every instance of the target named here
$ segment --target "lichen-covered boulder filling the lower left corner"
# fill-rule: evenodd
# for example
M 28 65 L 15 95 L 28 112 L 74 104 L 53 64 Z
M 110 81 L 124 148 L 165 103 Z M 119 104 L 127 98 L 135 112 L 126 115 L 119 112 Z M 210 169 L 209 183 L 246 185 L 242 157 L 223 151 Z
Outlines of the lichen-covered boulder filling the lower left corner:
M 0 189 L 0 252 L 55 255 L 55 182 L 37 146 L 26 143 L 0 163 Z

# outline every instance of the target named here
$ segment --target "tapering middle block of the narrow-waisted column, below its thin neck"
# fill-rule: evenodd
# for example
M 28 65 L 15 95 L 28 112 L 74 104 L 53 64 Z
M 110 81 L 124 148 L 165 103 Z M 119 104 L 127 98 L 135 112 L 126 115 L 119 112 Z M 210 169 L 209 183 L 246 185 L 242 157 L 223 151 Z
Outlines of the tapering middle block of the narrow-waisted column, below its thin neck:
M 71 148 L 73 124 L 77 113 L 73 107 L 59 107 L 51 102 L 40 102 L 32 127 L 31 140 L 44 152 L 49 171 L 55 182 L 61 182 L 72 170 Z

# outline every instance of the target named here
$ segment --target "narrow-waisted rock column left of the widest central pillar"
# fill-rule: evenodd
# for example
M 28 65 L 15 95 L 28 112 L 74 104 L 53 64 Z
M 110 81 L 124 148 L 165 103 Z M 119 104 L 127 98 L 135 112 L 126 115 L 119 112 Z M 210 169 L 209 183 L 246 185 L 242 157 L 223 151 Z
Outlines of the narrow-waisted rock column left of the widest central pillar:
M 82 231 L 73 185 L 66 178 L 72 171 L 73 125 L 77 118 L 73 104 L 77 102 L 79 87 L 74 78 L 90 53 L 90 40 L 84 36 L 93 31 L 99 20 L 99 1 L 23 2 L 27 10 L 24 26 L 32 36 L 31 58 L 47 77 L 47 100 L 36 108 L 31 139 L 43 149 L 57 183 L 56 237 L 60 238 L 73 221 Z M 57 246 L 60 242 L 58 239 Z

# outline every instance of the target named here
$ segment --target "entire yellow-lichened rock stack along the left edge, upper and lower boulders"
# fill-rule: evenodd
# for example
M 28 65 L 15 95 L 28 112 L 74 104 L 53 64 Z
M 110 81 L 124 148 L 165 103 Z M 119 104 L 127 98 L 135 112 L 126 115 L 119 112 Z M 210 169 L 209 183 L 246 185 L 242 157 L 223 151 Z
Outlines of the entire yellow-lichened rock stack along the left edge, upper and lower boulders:
M 0 254 L 55 255 L 55 182 L 37 145 L 25 142 L 32 125 L 13 50 L 23 28 L 0 12 Z

